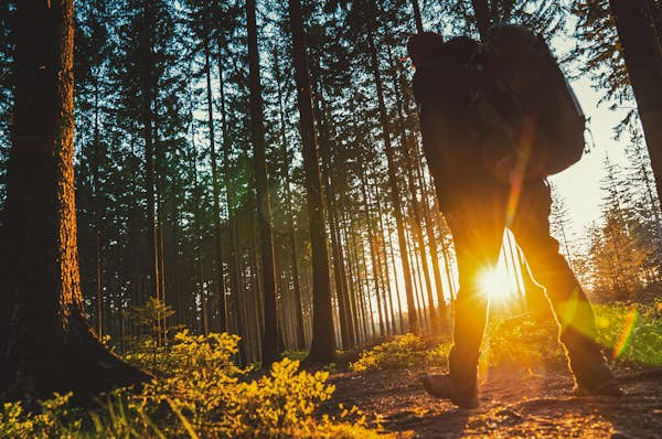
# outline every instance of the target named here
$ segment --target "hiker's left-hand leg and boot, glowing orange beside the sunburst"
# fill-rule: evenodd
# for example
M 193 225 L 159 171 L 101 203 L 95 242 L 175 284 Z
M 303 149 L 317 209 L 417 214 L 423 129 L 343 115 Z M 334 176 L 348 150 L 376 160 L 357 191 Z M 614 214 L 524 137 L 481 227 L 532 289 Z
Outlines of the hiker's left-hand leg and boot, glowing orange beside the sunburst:
M 480 277 L 499 260 L 502 217 L 484 205 L 446 217 L 453 237 L 460 281 L 455 302 L 453 345 L 449 374 L 427 376 L 423 383 L 431 395 L 449 398 L 460 407 L 478 405 L 478 357 L 488 314 L 488 295 L 481 290 Z

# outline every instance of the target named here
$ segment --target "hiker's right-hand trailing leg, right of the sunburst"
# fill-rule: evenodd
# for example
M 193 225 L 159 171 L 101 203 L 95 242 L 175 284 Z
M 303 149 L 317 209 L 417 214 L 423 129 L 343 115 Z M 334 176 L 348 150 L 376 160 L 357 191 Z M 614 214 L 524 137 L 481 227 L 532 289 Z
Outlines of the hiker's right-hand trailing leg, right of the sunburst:
M 511 229 L 524 251 L 533 278 L 545 287 L 559 324 L 577 388 L 587 393 L 617 394 L 618 386 L 596 342 L 592 308 L 559 245 L 549 234 L 551 191 L 543 180 L 530 182 Z

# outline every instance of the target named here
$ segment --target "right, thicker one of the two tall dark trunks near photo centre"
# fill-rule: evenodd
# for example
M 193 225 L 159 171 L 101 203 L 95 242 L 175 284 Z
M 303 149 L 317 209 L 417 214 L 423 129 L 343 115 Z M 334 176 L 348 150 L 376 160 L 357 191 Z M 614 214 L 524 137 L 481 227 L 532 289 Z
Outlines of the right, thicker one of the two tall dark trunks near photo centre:
M 312 343 L 309 360 L 332 362 L 335 358 L 335 333 L 333 332 L 331 285 L 329 280 L 329 251 L 327 249 L 322 183 L 314 119 L 312 116 L 310 74 L 308 57 L 306 55 L 306 35 L 303 33 L 303 18 L 299 0 L 289 1 L 289 13 L 300 131 L 303 143 L 306 202 L 308 204 L 310 243 L 312 247 Z

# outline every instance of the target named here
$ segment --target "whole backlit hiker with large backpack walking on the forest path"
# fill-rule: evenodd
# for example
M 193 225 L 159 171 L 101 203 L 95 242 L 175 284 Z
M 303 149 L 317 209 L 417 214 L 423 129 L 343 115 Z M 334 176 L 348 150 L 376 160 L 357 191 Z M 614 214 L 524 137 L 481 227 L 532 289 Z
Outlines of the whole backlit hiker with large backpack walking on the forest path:
M 407 44 L 423 144 L 450 227 L 460 289 L 449 373 L 423 376 L 426 390 L 477 407 L 477 367 L 488 297 L 480 275 L 496 266 L 510 229 L 545 287 L 581 394 L 620 395 L 596 343 L 591 306 L 549 233 L 547 175 L 578 161 L 584 115 L 544 40 L 493 26 L 484 43 L 435 33 Z

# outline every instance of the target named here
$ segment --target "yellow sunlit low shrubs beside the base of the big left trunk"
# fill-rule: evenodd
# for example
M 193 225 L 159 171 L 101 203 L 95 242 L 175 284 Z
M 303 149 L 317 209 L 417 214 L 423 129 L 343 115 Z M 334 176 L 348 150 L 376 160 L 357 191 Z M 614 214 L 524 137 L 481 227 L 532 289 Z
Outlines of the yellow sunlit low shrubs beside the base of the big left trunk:
M 320 415 L 334 386 L 328 372 L 299 371 L 284 358 L 253 379 L 233 358 L 238 338 L 180 332 L 168 350 L 136 351 L 127 360 L 149 366 L 158 379 L 136 394 L 120 389 L 94 411 L 70 407 L 72 395 L 41 403 L 38 414 L 21 403 L 0 409 L 1 438 L 371 438 L 377 420 L 355 407 Z

